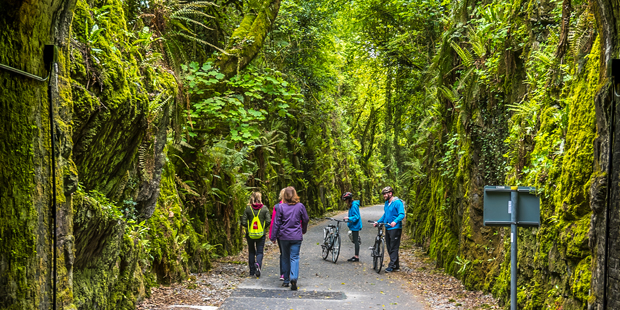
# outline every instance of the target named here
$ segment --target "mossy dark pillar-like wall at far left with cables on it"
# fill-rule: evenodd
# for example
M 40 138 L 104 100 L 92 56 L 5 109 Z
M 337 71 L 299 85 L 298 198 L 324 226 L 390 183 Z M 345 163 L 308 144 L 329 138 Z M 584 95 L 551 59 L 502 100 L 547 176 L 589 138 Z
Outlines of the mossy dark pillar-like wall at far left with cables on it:
M 71 93 L 67 35 L 73 1 L 4 1 L 0 63 L 45 77 L 46 44 L 60 48 L 53 86 L 58 244 L 52 244 L 48 82 L 0 70 L 0 308 L 50 309 L 52 251 L 58 255 L 58 304 L 71 308 L 73 238 L 70 186 Z M 65 176 L 65 178 L 63 178 Z

